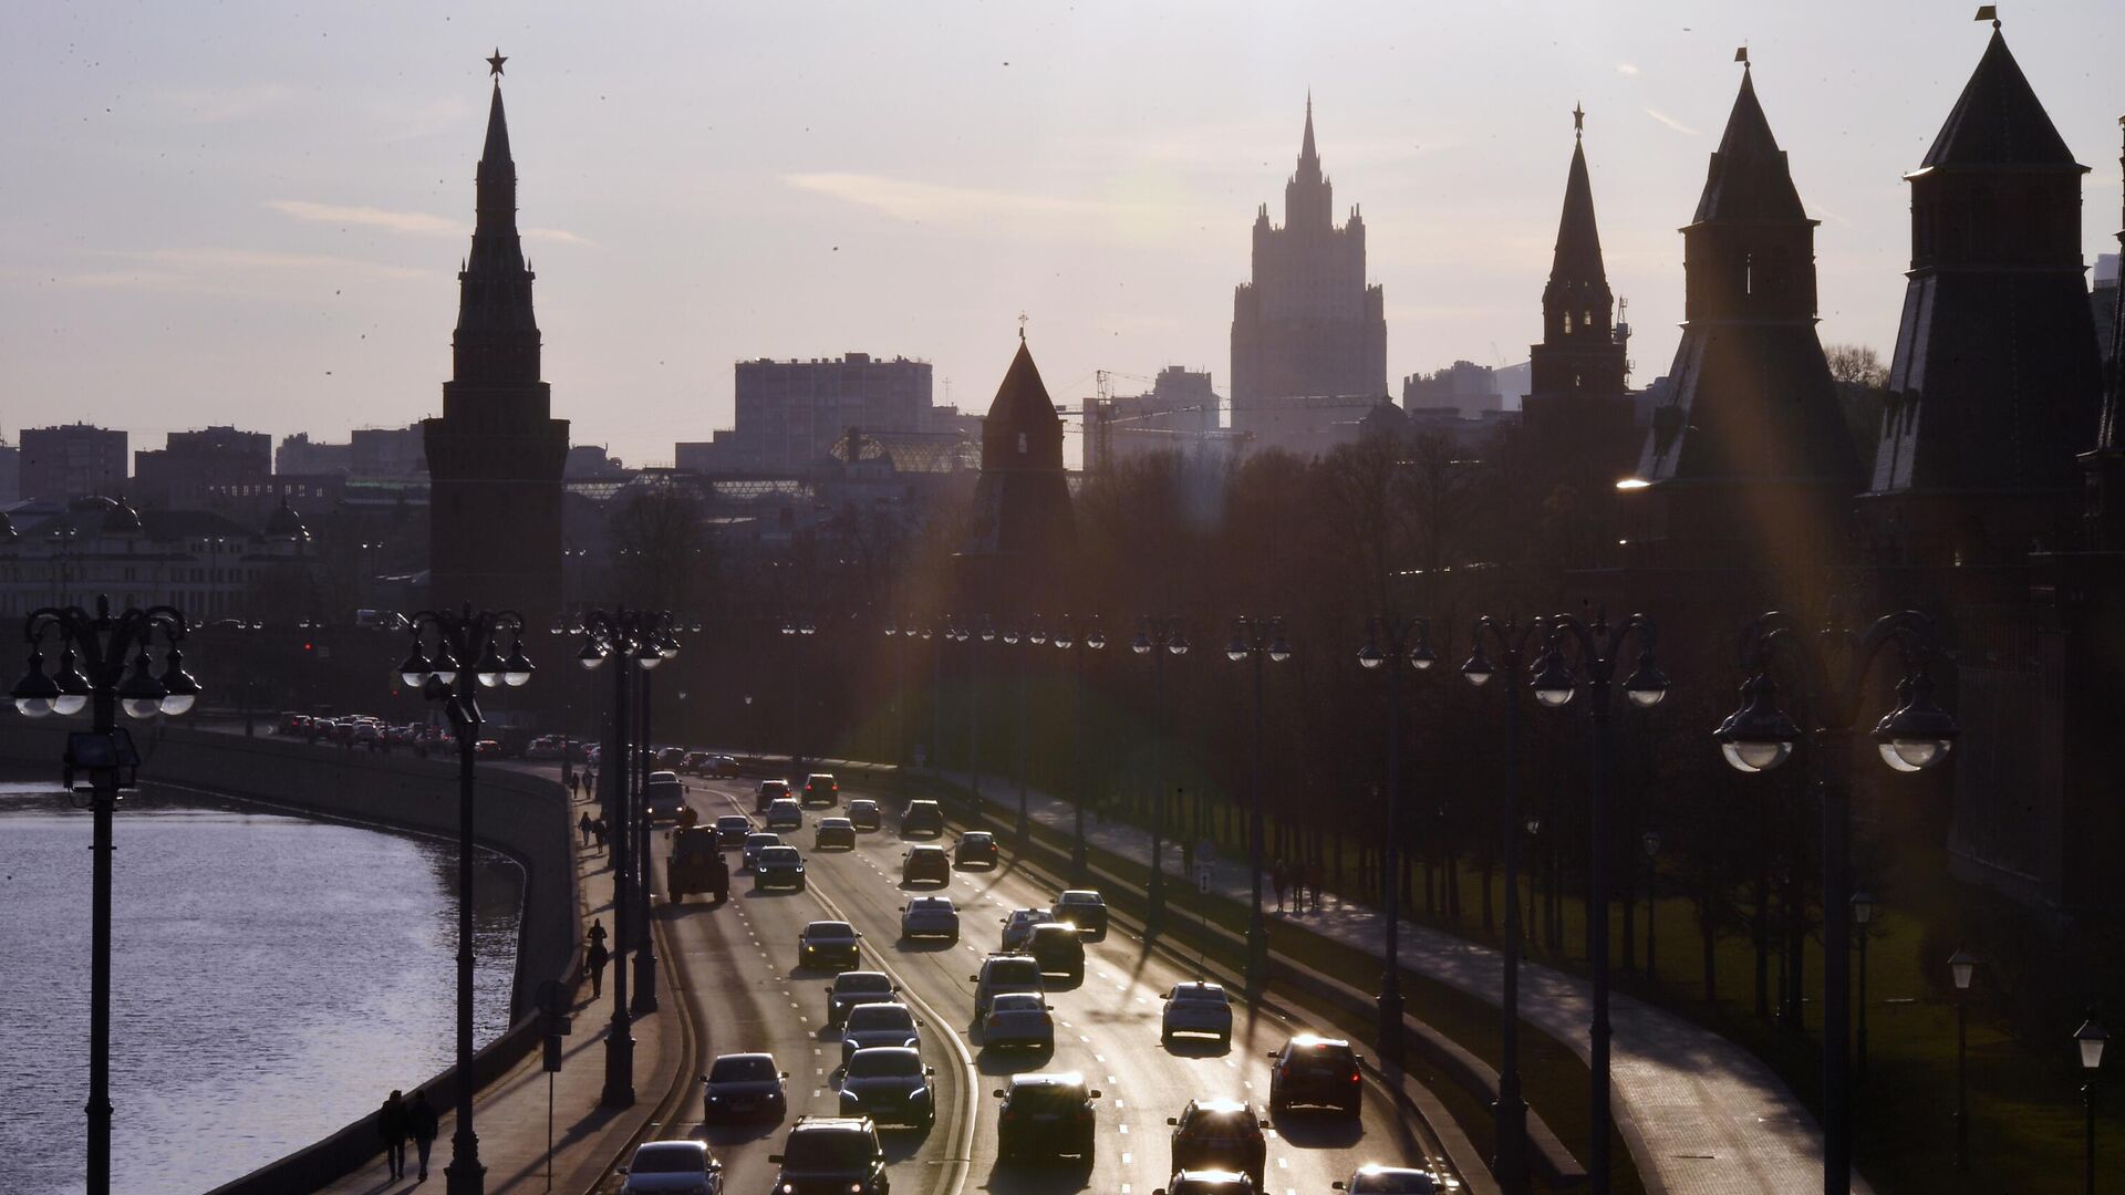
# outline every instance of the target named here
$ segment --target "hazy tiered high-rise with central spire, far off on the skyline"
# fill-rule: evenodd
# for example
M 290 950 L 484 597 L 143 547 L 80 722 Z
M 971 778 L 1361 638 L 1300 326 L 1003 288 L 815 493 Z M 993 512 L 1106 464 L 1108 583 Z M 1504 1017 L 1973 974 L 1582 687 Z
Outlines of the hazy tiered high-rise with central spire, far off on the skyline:
M 1364 410 L 1300 400 L 1388 393 L 1388 319 L 1364 281 L 1364 217 L 1343 228 L 1313 149 L 1313 98 L 1298 170 L 1284 185 L 1284 225 L 1254 215 L 1254 281 L 1232 293 L 1232 430 L 1254 447 L 1315 455 L 1347 438 Z

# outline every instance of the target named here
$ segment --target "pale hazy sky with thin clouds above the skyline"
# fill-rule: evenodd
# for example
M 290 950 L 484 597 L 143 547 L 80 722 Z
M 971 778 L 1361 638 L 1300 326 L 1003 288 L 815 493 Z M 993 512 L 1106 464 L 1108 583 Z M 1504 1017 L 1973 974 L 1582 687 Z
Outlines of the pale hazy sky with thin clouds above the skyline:
M 1050 391 L 1230 364 L 1254 208 L 1307 87 L 1362 204 L 1390 385 L 1522 361 L 1587 157 L 1634 381 L 1751 45 L 1817 236 L 1825 340 L 1887 355 L 1902 172 L 1989 30 L 1966 0 L 13 4 L 0 17 L 0 427 L 276 438 L 440 406 L 504 89 L 544 372 L 576 442 L 667 461 L 742 357 L 903 353 L 986 408 L 1018 313 Z M 2114 251 L 2125 2 L 2002 4 Z M 1075 436 L 1073 436 L 1075 440 Z M 1075 444 L 1069 449 L 1075 455 Z

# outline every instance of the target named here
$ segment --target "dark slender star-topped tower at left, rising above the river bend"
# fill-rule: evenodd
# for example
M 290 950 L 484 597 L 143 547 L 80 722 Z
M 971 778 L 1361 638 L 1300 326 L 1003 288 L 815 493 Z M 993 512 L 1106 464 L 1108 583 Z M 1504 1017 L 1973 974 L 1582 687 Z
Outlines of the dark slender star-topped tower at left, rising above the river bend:
M 429 602 L 512 608 L 529 627 L 561 612 L 561 466 L 567 421 L 540 381 L 531 270 L 516 238 L 516 162 L 502 62 L 480 151 L 472 253 L 457 274 L 453 372 L 423 425 L 429 470 Z

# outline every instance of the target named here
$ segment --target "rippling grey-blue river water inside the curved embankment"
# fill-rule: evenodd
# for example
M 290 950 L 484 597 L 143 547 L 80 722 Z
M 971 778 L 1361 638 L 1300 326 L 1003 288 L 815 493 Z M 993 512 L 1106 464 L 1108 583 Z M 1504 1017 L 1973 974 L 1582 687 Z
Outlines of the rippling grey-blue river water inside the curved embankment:
M 83 1191 L 89 814 L 0 785 L 0 1191 Z M 191 1195 L 455 1057 L 457 846 L 142 789 L 113 861 L 113 1186 Z M 476 1036 L 508 1027 L 523 874 L 474 880 Z

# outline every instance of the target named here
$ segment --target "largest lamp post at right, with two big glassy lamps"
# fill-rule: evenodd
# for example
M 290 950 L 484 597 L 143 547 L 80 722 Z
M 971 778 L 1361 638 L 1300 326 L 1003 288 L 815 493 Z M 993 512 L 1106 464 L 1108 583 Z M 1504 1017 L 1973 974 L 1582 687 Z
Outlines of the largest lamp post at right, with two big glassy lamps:
M 1917 610 L 1883 615 L 1862 632 L 1823 632 L 1825 646 L 1840 649 L 1842 672 L 1832 687 L 1823 649 L 1808 644 L 1800 625 L 1783 612 L 1766 612 L 1742 629 L 1740 706 L 1719 723 L 1713 738 L 1738 772 L 1766 772 L 1808 740 L 1815 787 L 1823 806 L 1823 908 L 1851 904 L 1851 738 L 1866 680 L 1874 661 L 1891 646 L 1904 666 L 1898 685 L 1902 706 L 1874 723 L 1874 746 L 1896 772 L 1919 772 L 1940 763 L 1955 744 L 1955 719 L 1934 704 L 1934 621 Z M 1779 708 L 1772 663 L 1787 655 L 1804 678 L 1806 712 L 1813 729 L 1802 731 Z M 1823 1193 L 1851 1191 L 1851 921 L 1823 919 Z

